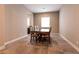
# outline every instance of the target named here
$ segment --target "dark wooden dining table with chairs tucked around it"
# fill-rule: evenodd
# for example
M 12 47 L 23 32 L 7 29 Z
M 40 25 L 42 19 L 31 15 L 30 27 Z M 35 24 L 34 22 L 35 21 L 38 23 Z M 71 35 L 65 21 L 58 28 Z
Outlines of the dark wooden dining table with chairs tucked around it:
M 33 30 L 30 31 L 31 33 L 31 40 L 37 41 L 44 41 L 47 38 L 50 41 L 50 29 L 40 29 L 40 30 Z

